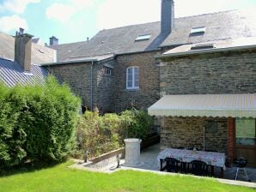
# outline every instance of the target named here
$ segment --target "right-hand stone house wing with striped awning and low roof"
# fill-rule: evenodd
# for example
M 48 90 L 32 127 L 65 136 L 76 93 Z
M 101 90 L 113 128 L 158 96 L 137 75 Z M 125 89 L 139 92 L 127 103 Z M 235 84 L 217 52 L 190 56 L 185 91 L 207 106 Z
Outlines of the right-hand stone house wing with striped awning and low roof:
M 163 97 L 149 114 L 162 117 L 163 148 L 214 150 L 255 166 L 255 43 L 220 40 L 195 50 L 197 44 L 181 45 L 158 57 Z

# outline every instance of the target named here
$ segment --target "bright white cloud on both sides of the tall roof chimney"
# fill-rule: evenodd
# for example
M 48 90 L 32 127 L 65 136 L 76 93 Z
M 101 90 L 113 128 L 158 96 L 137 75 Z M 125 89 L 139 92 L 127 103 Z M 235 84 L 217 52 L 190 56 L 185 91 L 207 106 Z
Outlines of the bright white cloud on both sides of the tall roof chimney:
M 247 8 L 250 0 L 174 0 L 175 17 Z M 161 0 L 105 0 L 97 12 L 97 27 L 113 28 L 160 21 Z

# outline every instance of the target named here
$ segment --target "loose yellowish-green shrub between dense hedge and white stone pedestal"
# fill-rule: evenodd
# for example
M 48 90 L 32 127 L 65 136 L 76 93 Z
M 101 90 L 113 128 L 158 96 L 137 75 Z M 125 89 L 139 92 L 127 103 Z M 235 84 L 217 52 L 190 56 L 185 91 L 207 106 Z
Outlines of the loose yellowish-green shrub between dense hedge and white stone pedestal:
M 119 125 L 120 120 L 116 114 L 101 117 L 97 112 L 86 111 L 76 130 L 80 154 L 88 151 L 92 157 L 122 146 Z

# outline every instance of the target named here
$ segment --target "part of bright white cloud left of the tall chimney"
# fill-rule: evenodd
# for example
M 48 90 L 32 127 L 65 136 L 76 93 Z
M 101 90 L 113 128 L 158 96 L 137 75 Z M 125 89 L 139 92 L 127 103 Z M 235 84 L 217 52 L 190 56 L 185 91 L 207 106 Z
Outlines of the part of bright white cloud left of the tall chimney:
M 97 13 L 97 27 L 112 28 L 160 20 L 160 0 L 106 0 Z

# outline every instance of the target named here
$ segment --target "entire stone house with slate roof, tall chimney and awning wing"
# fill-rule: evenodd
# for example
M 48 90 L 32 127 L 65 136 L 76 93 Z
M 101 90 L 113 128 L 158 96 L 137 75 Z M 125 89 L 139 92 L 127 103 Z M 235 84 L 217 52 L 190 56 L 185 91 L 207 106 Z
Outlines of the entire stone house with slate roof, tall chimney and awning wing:
M 174 1 L 162 0 L 159 22 L 102 30 L 74 44 L 55 38 L 57 63 L 46 67 L 88 109 L 149 108 L 161 117 L 162 147 L 216 150 L 230 162 L 242 155 L 255 166 L 254 13 L 174 18 Z

